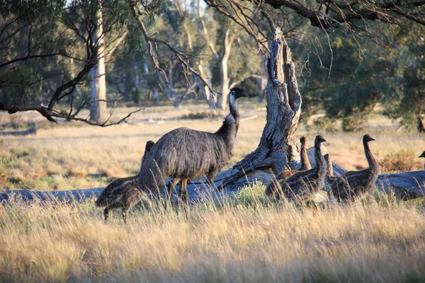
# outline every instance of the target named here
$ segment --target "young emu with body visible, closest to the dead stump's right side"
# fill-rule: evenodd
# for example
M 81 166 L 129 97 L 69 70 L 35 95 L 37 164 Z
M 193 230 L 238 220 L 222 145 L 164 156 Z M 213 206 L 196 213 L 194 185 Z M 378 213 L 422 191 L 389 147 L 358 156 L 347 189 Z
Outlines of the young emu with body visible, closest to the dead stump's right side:
M 278 184 L 272 182 L 266 187 L 266 195 L 280 199 L 284 195 L 288 200 L 307 202 L 312 200 L 314 194 L 324 187 L 326 164 L 322 156 L 321 144 L 326 141 L 322 136 L 314 140 L 314 159 L 316 167 L 300 171 L 285 180 L 279 180 Z

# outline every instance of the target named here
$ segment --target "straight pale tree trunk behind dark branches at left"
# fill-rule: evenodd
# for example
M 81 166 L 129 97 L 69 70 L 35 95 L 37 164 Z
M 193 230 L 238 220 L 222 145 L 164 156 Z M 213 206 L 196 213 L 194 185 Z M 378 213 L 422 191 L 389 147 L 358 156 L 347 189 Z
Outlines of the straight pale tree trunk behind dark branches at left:
M 94 45 L 98 45 L 98 64 L 91 69 L 90 84 L 90 120 L 94 122 L 102 122 L 106 113 L 106 68 L 105 68 L 105 40 L 103 36 L 103 16 L 101 1 L 97 11 L 97 28 L 93 34 Z

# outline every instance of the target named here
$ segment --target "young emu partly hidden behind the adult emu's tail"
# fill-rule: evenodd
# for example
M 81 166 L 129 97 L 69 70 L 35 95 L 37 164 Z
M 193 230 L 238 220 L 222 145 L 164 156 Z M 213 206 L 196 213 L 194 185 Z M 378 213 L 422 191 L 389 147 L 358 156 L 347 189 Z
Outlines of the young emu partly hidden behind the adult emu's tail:
M 154 142 L 147 141 L 142 163 L 145 161 L 146 155 L 152 149 L 152 146 L 154 146 Z M 108 220 L 109 209 L 120 208 L 122 209 L 121 216 L 124 224 L 127 223 L 128 210 L 142 198 L 142 192 L 137 190 L 138 180 L 139 174 L 127 178 L 118 178 L 105 187 L 96 202 L 94 202 L 96 207 L 106 207 L 103 211 L 105 221 Z

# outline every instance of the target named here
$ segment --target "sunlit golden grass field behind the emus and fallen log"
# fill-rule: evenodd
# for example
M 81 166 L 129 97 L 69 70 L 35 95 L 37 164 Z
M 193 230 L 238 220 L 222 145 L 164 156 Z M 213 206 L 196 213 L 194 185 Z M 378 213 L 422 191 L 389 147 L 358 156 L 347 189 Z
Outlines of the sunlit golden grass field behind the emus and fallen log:
M 228 165 L 239 161 L 246 154 L 256 149 L 266 112 L 244 112 L 254 110 L 256 104 L 241 103 L 242 118 L 256 115 L 256 119 L 241 122 L 234 148 L 234 156 Z M 123 115 L 128 109 L 118 108 L 116 117 Z M 100 128 L 81 123 L 62 123 L 38 130 L 37 135 L 28 137 L 1 137 L 3 150 L 0 151 L 0 168 L 8 172 L 13 180 L 4 188 L 29 188 L 43 190 L 59 189 L 53 179 L 77 178 L 72 181 L 79 188 L 106 185 L 108 177 L 135 175 L 140 167 L 140 159 L 149 139 L 157 141 L 166 132 L 176 127 L 191 127 L 214 132 L 221 125 L 221 120 L 167 120 L 162 123 L 148 123 L 145 120 L 181 117 L 185 113 L 207 111 L 205 105 L 190 105 L 175 109 L 168 106 L 147 108 L 135 115 L 135 120 L 128 124 Z M 2 121 L 12 115 L 3 115 Z M 33 113 L 22 115 L 21 120 L 40 119 Z M 371 148 L 378 159 L 384 158 L 392 151 L 400 149 L 417 149 L 417 156 L 425 149 L 425 140 L 419 134 L 397 132 L 397 124 L 383 117 L 374 117 L 364 132 L 354 133 L 319 133 L 306 132 L 300 125 L 297 134 L 307 136 L 307 146 L 312 146 L 314 136 L 322 134 L 326 139 L 327 149 L 334 162 L 340 163 L 348 170 L 365 168 L 367 162 L 363 154 L 361 138 L 365 132 L 377 141 Z M 140 122 L 143 121 L 143 122 Z M 7 121 L 6 121 L 7 122 Z M 118 170 L 117 170 L 118 168 Z M 417 169 L 415 166 L 412 169 Z M 119 171 L 119 172 L 118 172 Z M 69 186 L 67 186 L 68 188 Z

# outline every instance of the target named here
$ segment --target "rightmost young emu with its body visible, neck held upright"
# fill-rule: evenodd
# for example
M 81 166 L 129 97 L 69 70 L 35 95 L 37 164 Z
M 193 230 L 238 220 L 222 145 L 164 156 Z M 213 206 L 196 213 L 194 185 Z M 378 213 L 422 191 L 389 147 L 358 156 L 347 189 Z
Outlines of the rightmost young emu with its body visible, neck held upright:
M 375 186 L 375 181 L 379 174 L 379 166 L 369 148 L 369 141 L 374 140 L 368 134 L 363 136 L 363 148 L 369 168 L 361 171 L 348 171 L 328 181 L 331 190 L 329 193 L 338 202 L 353 202 L 363 197 Z

